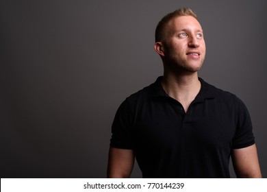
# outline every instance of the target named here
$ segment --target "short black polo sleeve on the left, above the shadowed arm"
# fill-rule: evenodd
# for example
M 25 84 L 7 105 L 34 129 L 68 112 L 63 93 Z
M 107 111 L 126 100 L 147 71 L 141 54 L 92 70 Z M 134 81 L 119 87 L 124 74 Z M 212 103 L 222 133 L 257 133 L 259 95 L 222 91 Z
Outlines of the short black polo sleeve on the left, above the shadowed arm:
M 132 114 L 127 99 L 118 108 L 112 123 L 110 147 L 133 149 Z

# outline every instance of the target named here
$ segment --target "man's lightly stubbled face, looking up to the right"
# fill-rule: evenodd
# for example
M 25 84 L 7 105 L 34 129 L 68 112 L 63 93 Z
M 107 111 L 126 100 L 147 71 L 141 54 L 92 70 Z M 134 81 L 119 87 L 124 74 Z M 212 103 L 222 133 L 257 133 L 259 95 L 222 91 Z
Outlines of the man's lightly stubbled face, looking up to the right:
M 196 72 L 205 59 L 205 41 L 199 22 L 192 16 L 179 16 L 166 25 L 163 40 L 164 58 L 171 68 Z

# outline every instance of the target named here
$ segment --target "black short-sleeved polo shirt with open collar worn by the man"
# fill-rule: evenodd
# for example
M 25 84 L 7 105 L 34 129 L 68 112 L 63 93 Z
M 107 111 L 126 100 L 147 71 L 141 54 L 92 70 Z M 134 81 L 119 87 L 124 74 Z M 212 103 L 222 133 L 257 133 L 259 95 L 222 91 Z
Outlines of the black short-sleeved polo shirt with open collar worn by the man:
M 231 150 L 255 143 L 246 106 L 199 78 L 201 91 L 185 112 L 161 80 L 123 101 L 110 146 L 133 149 L 143 178 L 229 178 Z

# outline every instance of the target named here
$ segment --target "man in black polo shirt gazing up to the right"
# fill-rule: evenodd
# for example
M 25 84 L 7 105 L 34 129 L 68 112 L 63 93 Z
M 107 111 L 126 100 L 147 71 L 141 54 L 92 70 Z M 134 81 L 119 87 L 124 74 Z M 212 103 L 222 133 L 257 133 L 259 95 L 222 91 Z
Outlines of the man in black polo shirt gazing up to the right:
M 207 84 L 203 30 L 183 8 L 155 30 L 164 75 L 127 97 L 112 124 L 107 177 L 129 178 L 134 159 L 143 178 L 261 178 L 249 112 L 238 97 Z

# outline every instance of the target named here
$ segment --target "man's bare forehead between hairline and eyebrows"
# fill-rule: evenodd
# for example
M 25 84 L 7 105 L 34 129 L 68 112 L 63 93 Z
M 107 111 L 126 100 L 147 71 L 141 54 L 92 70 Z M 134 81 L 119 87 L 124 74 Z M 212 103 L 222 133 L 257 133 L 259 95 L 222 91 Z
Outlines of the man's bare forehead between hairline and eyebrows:
M 193 31 L 202 31 L 201 24 L 193 16 L 177 16 L 174 19 L 171 19 L 166 25 L 168 30 L 193 30 Z

